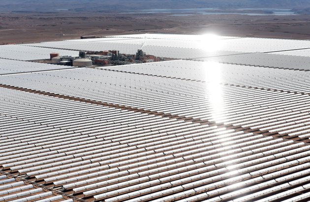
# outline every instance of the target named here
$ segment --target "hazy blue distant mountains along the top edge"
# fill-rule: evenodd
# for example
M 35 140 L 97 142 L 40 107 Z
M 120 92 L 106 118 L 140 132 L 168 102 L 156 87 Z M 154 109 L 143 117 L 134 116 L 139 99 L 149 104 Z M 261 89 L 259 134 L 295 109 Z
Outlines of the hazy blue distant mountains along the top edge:
M 0 11 L 118 11 L 184 8 L 310 7 L 310 0 L 0 0 Z

